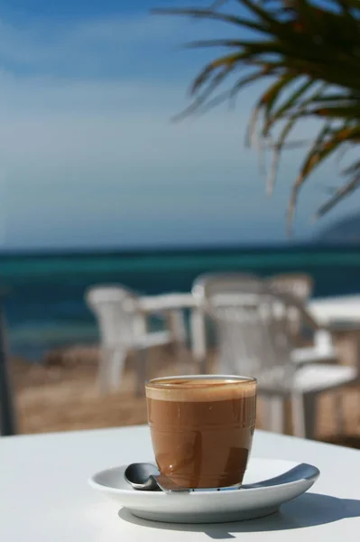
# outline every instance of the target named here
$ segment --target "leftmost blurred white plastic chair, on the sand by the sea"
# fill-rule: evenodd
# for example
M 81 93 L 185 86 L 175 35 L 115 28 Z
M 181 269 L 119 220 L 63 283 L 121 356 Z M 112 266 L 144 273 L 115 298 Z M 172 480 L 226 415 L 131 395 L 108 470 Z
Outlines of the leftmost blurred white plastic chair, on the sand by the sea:
M 168 330 L 147 332 L 145 314 L 139 309 L 137 297 L 124 286 L 94 286 L 88 290 L 86 300 L 97 317 L 100 332 L 100 392 L 106 394 L 119 386 L 126 357 L 134 351 L 137 356 L 136 394 L 141 395 L 146 379 L 147 350 L 184 338 L 178 338 L 175 332 Z

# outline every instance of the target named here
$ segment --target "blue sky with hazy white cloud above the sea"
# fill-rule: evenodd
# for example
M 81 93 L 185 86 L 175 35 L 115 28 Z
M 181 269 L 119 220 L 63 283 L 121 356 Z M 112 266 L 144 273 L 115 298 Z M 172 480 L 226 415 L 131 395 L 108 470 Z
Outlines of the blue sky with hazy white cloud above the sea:
M 190 79 L 224 35 L 214 23 L 150 16 L 171 0 L 0 2 L 0 241 L 4 248 L 266 243 L 285 239 L 299 152 L 268 199 L 245 126 L 259 89 L 180 124 Z M 198 5 L 206 2 L 198 0 Z M 261 89 L 260 89 L 261 90 Z M 301 128 L 309 136 L 311 126 Z M 302 192 L 300 240 L 334 184 L 334 164 Z M 329 221 L 356 210 L 356 198 Z

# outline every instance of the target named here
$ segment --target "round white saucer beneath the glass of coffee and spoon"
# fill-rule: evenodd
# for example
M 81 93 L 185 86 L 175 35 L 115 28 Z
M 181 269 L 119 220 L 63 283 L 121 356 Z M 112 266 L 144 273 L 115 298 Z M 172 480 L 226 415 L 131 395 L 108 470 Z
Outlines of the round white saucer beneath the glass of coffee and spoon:
M 287 472 L 299 463 L 253 458 L 244 483 L 267 480 Z M 283 502 L 309 490 L 318 479 L 318 469 L 307 465 L 306 477 L 270 487 L 230 491 L 174 492 L 136 491 L 124 479 L 127 465 L 97 472 L 89 484 L 116 500 L 134 516 L 168 523 L 221 523 L 262 518 L 277 511 Z

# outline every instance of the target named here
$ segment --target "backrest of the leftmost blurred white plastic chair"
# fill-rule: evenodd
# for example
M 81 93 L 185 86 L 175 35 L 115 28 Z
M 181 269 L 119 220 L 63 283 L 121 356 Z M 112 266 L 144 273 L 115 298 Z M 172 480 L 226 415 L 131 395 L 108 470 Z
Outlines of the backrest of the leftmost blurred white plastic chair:
M 143 332 L 137 298 L 124 286 L 93 286 L 88 289 L 86 300 L 97 317 L 103 347 L 131 347 L 135 337 Z

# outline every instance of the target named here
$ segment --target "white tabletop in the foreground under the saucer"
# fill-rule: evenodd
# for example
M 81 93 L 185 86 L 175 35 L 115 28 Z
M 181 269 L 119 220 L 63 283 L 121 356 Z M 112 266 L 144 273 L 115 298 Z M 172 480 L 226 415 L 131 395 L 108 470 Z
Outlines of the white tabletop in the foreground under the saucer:
M 257 432 L 254 456 L 318 466 L 311 490 L 268 518 L 213 525 L 136 519 L 88 487 L 93 472 L 152 457 L 147 427 L 0 439 L 0 540 L 182 542 L 360 540 L 360 452 Z M 184 534 L 185 532 L 185 534 Z

